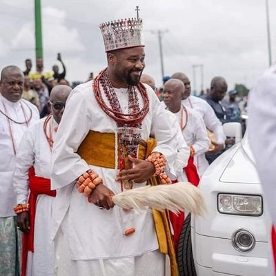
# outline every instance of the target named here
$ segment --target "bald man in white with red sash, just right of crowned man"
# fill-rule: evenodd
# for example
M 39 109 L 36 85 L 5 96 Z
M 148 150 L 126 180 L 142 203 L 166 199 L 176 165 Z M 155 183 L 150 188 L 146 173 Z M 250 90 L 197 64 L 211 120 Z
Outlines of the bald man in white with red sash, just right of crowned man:
M 180 170 L 179 168 L 175 168 L 177 179 L 178 181 L 190 181 L 190 183 L 197 186 L 199 184 L 199 173 L 197 166 L 194 164 L 194 159 L 197 159 L 199 164 L 201 163 L 201 159 L 205 159 L 204 153 L 210 146 L 210 140 L 207 136 L 204 121 L 199 113 L 185 107 L 181 103 L 181 95 L 184 90 L 185 86 L 182 81 L 179 79 L 169 79 L 164 85 L 164 103 L 166 104 L 166 109 L 177 118 L 181 133 L 190 147 L 190 155 L 186 166 L 183 166 Z M 170 221 L 174 229 L 175 246 L 177 246 L 184 224 L 184 213 L 180 213 L 178 216 L 170 214 Z

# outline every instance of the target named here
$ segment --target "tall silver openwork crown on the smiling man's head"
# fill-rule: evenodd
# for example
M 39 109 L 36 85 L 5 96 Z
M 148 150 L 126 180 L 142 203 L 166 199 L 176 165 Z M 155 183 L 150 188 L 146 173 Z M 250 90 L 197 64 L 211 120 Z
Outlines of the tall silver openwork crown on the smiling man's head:
M 99 26 L 103 35 L 106 52 L 145 46 L 142 34 L 143 21 L 141 18 L 121 19 L 106 23 Z

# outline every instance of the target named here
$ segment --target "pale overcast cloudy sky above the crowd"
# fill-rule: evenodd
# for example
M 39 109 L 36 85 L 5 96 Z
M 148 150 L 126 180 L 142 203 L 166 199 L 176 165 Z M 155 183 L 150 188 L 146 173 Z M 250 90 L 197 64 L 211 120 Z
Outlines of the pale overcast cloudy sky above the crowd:
M 276 59 L 276 1 L 270 5 L 273 61 Z M 0 0 L 0 68 L 34 60 L 34 0 Z M 41 0 L 45 69 L 61 52 L 70 81 L 85 81 L 106 66 L 99 23 L 144 19 L 146 69 L 161 84 L 157 30 L 164 31 L 164 72 L 186 72 L 197 89 L 216 75 L 251 87 L 268 67 L 265 0 Z M 57 63 L 58 64 L 58 63 Z

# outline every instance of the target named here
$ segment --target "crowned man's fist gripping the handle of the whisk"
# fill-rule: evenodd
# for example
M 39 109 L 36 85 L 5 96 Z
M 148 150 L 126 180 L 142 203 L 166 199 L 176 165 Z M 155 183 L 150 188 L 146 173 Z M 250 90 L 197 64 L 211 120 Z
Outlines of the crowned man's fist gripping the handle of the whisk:
M 99 208 L 109 210 L 114 207 L 112 197 L 115 195 L 112 190 L 103 184 L 99 184 L 92 192 L 92 195 L 88 197 L 88 201 L 95 204 Z

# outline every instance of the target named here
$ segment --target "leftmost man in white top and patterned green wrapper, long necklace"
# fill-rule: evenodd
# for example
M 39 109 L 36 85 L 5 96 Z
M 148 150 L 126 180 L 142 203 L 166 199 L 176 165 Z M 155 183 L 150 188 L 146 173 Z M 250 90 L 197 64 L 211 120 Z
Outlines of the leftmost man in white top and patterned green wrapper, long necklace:
M 13 207 L 16 195 L 12 186 L 14 159 L 23 132 L 39 119 L 37 107 L 21 99 L 23 72 L 7 66 L 0 80 L 0 275 L 20 274 L 21 234 Z

